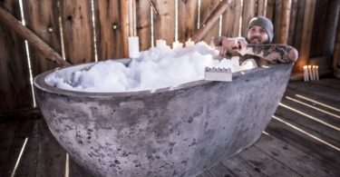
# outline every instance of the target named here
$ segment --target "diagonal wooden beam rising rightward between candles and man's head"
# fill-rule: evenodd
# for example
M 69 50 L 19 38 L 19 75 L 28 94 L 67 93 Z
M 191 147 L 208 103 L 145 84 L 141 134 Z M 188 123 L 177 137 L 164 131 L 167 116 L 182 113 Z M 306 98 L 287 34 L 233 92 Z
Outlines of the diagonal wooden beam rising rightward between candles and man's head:
M 191 41 L 194 41 L 195 43 L 199 42 L 204 35 L 209 32 L 209 29 L 219 20 L 219 15 L 222 15 L 228 9 L 230 2 L 230 0 L 221 1 L 215 10 L 211 12 L 207 20 L 202 23 L 201 27 L 192 34 Z

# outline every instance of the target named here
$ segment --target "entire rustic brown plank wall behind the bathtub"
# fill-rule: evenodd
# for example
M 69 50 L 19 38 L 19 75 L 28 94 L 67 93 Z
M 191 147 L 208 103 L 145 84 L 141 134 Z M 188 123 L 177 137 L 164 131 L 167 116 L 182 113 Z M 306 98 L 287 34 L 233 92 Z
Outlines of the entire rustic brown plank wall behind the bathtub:
M 17 19 L 21 18 L 18 0 L 0 2 Z M 23 9 L 26 26 L 34 34 L 57 53 L 63 54 L 68 62 L 79 64 L 95 59 L 102 61 L 127 57 L 127 37 L 133 34 L 131 31 L 140 37 L 141 50 L 149 49 L 157 39 L 164 39 L 169 45 L 174 40 L 184 43 L 198 29 L 198 22 L 199 26 L 204 24 L 219 2 L 177 0 L 176 4 L 173 0 L 24 0 Z M 238 36 L 239 33 L 245 35 L 250 18 L 266 15 L 275 25 L 274 43 L 287 43 L 299 51 L 296 72 L 303 65 L 315 62 L 309 59 L 311 57 L 321 58 L 316 63 L 331 68 L 332 62 L 325 60 L 324 56 L 332 59 L 338 23 L 338 18 L 334 17 L 339 15 L 340 0 L 228 0 L 227 3 L 228 9 L 221 15 L 221 25 L 216 22 L 203 38 L 208 44 L 212 37 L 219 35 L 219 31 L 228 37 Z M 134 14 L 135 19 L 131 16 Z M 289 19 L 281 19 L 282 16 Z M 1 23 L 0 33 L 0 78 L 4 81 L 0 84 L 0 113 L 32 108 L 24 40 Z M 29 54 L 33 76 L 57 66 L 30 46 Z

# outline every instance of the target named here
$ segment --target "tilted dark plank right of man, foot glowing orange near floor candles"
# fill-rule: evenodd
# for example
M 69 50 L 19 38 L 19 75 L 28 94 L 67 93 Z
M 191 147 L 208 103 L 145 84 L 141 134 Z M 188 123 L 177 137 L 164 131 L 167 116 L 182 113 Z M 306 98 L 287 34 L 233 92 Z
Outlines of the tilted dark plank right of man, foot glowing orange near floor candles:
M 316 0 L 306 1 L 304 27 L 302 30 L 301 50 L 299 59 L 295 65 L 295 71 L 302 72 L 303 66 L 307 64 L 310 52 L 310 44 L 313 31 L 314 13 L 316 10 Z

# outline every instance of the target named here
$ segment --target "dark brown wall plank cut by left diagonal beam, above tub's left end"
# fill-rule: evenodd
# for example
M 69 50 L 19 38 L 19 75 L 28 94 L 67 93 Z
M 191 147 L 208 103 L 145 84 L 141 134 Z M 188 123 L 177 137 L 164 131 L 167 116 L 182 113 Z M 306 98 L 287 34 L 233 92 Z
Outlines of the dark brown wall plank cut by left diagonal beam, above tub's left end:
M 23 1 L 23 5 L 26 26 L 46 44 L 49 44 L 55 52 L 62 54 L 57 1 L 26 0 Z M 57 66 L 52 61 L 45 59 L 45 56 L 35 50 L 34 47 L 30 46 L 29 50 L 34 76 Z

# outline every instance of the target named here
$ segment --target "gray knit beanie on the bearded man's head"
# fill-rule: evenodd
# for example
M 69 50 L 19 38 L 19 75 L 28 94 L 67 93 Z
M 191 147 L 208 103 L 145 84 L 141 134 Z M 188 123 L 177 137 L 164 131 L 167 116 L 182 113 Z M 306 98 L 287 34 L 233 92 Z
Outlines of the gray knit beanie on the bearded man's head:
M 267 44 L 273 41 L 273 37 L 274 37 L 273 23 L 269 19 L 267 19 L 264 16 L 257 16 L 257 17 L 252 18 L 249 21 L 248 30 L 250 29 L 250 27 L 254 25 L 259 25 L 266 29 L 267 34 L 268 34 Z

